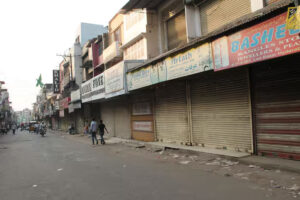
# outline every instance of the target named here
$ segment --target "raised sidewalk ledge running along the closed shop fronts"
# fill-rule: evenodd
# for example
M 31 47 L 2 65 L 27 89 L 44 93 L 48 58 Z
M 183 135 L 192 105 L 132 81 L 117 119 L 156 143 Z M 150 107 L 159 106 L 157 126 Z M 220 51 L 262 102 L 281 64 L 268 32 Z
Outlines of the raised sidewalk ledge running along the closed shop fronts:
M 57 131 L 63 135 L 69 135 L 67 132 Z M 86 135 L 70 135 L 82 139 L 90 139 Z M 287 159 L 279 159 L 279 158 L 271 158 L 271 157 L 263 157 L 263 156 L 255 156 L 250 155 L 249 153 L 243 152 L 233 152 L 228 150 L 220 150 L 220 149 L 210 149 L 204 147 L 197 147 L 197 146 L 183 146 L 183 145 L 176 145 L 176 144 L 168 144 L 168 143 L 161 143 L 161 142 L 141 142 L 136 140 L 130 139 L 122 139 L 116 137 L 106 138 L 107 144 L 118 144 L 122 143 L 127 146 L 132 146 L 136 148 L 151 148 L 154 151 L 164 151 L 166 149 L 177 149 L 181 151 L 185 151 L 188 153 L 208 153 L 219 155 L 222 157 L 226 157 L 227 159 L 231 159 L 234 161 L 238 161 L 245 165 L 256 165 L 260 166 L 265 169 L 275 169 L 275 170 L 283 170 L 289 171 L 294 173 L 300 174 L 300 162 L 294 160 L 287 160 Z

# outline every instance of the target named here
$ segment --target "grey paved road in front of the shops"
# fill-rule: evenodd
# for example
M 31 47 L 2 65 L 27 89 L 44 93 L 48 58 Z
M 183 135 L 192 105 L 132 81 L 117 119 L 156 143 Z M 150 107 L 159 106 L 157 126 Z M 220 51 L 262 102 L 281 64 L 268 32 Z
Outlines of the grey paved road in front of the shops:
M 117 144 L 92 147 L 52 133 L 0 136 L 1 200 L 267 199 L 256 188 Z

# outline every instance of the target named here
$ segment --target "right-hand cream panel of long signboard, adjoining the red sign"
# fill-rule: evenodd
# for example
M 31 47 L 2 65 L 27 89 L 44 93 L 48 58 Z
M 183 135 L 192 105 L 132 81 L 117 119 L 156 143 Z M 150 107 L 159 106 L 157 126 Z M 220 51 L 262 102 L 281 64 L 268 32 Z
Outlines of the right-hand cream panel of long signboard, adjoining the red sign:
M 211 47 L 205 43 L 166 59 L 167 80 L 189 76 L 213 69 Z

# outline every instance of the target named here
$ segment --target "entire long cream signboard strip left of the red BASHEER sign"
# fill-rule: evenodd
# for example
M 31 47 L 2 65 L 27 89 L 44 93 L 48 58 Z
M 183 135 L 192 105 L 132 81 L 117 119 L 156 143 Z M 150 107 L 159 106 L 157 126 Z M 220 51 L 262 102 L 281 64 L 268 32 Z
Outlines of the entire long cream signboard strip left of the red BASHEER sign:
M 213 69 L 210 43 L 168 57 L 165 60 L 127 74 L 128 90 L 197 74 Z

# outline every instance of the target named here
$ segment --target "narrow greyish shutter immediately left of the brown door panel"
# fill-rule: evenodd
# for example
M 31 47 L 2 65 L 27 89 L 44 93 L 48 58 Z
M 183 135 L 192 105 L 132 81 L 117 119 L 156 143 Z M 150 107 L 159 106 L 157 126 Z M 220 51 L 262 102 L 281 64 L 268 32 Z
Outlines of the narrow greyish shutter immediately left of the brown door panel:
M 116 137 L 130 139 L 130 111 L 127 98 L 122 98 L 115 103 L 115 134 Z

